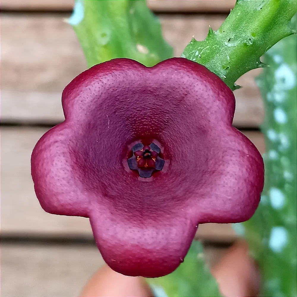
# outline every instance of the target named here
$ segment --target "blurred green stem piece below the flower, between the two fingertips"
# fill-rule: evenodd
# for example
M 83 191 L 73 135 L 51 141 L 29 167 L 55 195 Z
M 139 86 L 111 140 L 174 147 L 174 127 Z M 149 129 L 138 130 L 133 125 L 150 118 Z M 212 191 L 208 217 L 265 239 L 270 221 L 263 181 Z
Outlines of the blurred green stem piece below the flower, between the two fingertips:
M 156 297 L 217 297 L 218 285 L 204 262 L 203 247 L 193 241 L 184 263 L 165 277 L 147 279 Z M 163 293 L 164 292 L 164 293 Z

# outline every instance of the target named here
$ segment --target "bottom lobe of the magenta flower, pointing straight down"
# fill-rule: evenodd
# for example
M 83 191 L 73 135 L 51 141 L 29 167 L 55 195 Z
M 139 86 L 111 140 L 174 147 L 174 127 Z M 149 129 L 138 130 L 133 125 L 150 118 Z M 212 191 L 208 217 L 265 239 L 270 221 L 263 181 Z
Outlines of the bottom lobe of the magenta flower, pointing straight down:
M 123 214 L 109 207 L 90 215 L 103 259 L 115 271 L 129 276 L 160 277 L 174 271 L 190 247 L 197 226 L 181 214 L 154 212 Z

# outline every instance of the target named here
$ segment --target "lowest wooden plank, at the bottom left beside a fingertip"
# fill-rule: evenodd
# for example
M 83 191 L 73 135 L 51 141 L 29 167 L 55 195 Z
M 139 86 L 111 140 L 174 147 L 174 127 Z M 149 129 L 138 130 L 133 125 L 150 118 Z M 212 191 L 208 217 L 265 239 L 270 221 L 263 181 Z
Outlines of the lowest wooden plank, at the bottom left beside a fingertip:
M 206 262 L 215 265 L 226 250 L 205 247 Z M 104 261 L 96 247 L 1 243 L 1 295 L 78 296 L 102 265 Z

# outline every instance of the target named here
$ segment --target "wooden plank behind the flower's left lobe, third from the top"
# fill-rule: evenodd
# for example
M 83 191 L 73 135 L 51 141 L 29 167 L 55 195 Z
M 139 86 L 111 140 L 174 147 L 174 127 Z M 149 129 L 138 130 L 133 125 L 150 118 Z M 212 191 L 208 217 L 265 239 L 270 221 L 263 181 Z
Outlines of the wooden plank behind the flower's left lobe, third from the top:
M 1 128 L 1 236 L 83 236 L 92 238 L 89 220 L 48 214 L 35 196 L 30 156 L 45 128 Z M 261 153 L 260 132 L 245 132 Z M 203 224 L 197 236 L 206 241 L 233 241 L 231 225 Z

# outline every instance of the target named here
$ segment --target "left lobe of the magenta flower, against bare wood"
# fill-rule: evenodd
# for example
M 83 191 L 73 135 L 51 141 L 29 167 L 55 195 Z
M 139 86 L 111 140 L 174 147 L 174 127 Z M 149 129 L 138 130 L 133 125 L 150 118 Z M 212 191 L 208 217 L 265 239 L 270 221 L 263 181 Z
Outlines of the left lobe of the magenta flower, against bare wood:
M 38 141 L 31 157 L 34 189 L 42 208 L 51 214 L 88 217 L 89 195 L 69 151 L 71 130 L 64 122 Z

